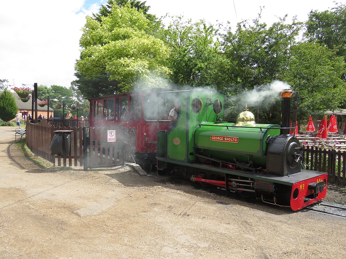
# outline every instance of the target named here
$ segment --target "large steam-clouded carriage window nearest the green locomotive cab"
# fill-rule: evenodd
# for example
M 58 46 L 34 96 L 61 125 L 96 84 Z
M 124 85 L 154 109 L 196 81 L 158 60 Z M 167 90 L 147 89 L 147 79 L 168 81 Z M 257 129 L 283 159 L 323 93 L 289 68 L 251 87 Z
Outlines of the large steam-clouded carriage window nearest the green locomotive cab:
M 143 117 L 147 121 L 157 120 L 157 118 L 159 120 L 167 120 L 173 107 L 174 102 L 169 98 L 157 98 L 153 95 L 143 97 Z

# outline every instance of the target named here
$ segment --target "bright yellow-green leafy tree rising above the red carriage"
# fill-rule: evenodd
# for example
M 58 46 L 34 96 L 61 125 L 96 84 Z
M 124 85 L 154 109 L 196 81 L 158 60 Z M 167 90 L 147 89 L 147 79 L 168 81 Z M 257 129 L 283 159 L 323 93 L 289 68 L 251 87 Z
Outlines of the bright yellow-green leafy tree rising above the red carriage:
M 122 91 L 131 90 L 136 83 L 155 85 L 158 77 L 170 73 L 164 66 L 169 49 L 146 34 L 148 29 L 149 20 L 143 12 L 129 4 L 113 5 L 101 22 L 87 17 L 75 69 L 88 76 L 107 73 L 110 80 L 120 82 Z

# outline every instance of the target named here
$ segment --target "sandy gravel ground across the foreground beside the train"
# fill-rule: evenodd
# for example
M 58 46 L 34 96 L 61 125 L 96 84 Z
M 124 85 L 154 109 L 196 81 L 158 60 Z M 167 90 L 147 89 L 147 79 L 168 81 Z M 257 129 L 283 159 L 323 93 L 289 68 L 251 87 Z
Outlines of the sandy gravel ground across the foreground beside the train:
M 1 127 L 0 258 L 346 258 L 345 218 L 129 167 L 40 170 L 16 152 Z

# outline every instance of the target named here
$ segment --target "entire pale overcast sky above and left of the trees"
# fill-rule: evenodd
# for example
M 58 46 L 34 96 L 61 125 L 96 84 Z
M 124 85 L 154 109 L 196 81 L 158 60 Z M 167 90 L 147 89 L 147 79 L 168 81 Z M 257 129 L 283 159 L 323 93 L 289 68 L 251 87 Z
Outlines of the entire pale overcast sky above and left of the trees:
M 0 1 L 0 79 L 10 85 L 61 85 L 75 80 L 81 28 L 85 16 L 97 12 L 104 0 L 17 0 Z M 147 0 L 149 12 L 161 17 L 184 15 L 192 20 L 226 23 L 235 28 L 241 20 L 257 17 L 268 25 L 288 14 L 305 21 L 311 9 L 335 7 L 333 0 Z M 345 1 L 338 1 L 345 3 Z M 218 21 L 217 21 L 218 20 Z M 13 86 L 11 86 L 13 87 Z

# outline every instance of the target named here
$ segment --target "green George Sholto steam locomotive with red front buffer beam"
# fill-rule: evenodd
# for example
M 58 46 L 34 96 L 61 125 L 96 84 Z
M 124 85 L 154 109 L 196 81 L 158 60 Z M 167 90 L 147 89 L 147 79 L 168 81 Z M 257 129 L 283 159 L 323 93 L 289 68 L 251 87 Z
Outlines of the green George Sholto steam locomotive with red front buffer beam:
M 181 173 L 194 182 L 252 193 L 293 210 L 325 198 L 327 173 L 301 168 L 302 147 L 290 135 L 292 96 L 296 121 L 297 92 L 281 92 L 281 125 L 255 123 L 247 107 L 236 123 L 222 120 L 224 95 L 216 91 L 175 95 L 181 104 L 179 118 L 175 128 L 158 132 L 158 173 Z

